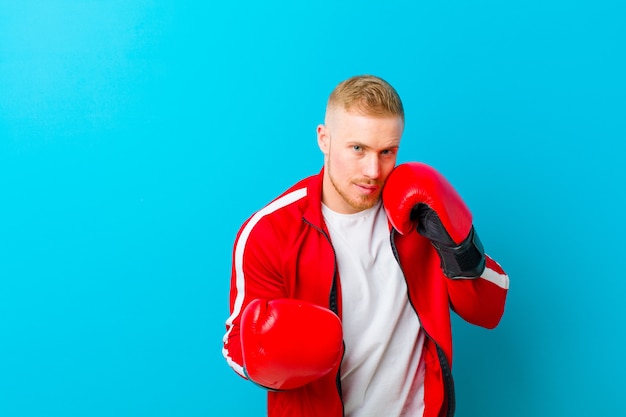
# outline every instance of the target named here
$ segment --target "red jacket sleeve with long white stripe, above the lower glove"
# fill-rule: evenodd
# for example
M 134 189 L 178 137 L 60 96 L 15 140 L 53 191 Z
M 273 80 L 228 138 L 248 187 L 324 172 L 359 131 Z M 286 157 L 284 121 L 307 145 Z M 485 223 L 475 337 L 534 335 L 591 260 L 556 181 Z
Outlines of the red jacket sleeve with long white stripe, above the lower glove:
M 277 257 L 272 256 L 280 253 L 275 242 L 271 227 L 253 216 L 243 224 L 233 247 L 230 316 L 222 354 L 228 365 L 246 379 L 239 336 L 241 313 L 252 300 L 285 297 L 280 266 Z

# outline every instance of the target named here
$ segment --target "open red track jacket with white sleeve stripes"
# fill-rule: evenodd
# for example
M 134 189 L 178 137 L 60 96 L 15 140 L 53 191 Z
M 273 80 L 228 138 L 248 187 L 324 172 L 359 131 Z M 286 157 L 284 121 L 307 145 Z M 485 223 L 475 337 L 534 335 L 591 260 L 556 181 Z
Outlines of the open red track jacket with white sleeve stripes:
M 295 184 L 250 217 L 237 234 L 223 354 L 244 378 L 239 322 L 250 301 L 307 300 L 341 317 L 341 280 L 321 211 L 322 176 L 323 171 Z M 475 325 L 495 327 L 504 312 L 509 278 L 488 256 L 480 278 L 447 278 L 436 250 L 417 232 L 400 235 L 392 230 L 391 245 L 426 333 L 424 417 L 452 416 L 450 310 Z M 268 416 L 343 416 L 339 370 L 340 365 L 298 389 L 269 391 Z

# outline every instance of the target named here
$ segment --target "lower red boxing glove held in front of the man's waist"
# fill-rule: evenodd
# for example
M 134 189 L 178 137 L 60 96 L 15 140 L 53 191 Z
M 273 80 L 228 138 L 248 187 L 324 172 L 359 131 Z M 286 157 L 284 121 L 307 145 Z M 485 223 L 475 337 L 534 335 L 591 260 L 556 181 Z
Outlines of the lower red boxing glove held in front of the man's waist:
M 240 327 L 245 372 L 265 388 L 306 385 L 330 372 L 343 354 L 339 317 L 306 301 L 254 300 Z

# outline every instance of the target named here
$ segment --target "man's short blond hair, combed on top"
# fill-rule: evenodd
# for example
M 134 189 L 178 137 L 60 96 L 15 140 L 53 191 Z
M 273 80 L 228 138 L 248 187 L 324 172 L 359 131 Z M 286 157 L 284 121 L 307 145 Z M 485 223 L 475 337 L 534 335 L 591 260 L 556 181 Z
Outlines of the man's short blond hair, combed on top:
M 357 75 L 342 81 L 328 98 L 327 109 L 340 107 L 365 116 L 399 116 L 404 121 L 404 107 L 396 90 L 374 75 Z

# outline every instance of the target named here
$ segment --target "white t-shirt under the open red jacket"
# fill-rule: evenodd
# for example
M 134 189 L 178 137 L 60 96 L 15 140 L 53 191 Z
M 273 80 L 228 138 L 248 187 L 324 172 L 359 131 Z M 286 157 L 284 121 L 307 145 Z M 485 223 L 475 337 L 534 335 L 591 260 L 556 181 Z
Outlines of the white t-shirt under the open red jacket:
M 390 244 L 382 204 L 355 214 L 322 205 L 337 255 L 346 352 L 346 417 L 422 416 L 424 334 Z

